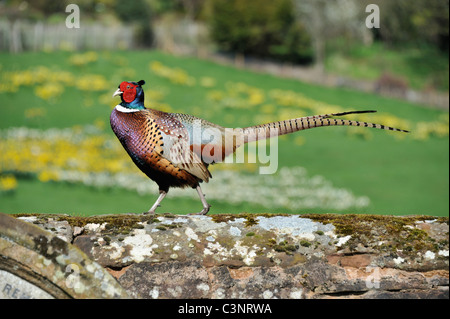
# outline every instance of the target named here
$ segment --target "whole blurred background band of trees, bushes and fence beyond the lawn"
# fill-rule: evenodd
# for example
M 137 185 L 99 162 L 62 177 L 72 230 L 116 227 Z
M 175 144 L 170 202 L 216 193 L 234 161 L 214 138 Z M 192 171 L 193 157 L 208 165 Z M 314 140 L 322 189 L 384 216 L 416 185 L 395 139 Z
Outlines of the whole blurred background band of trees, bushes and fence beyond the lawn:
M 44 20 L 64 28 L 65 7 L 71 2 L 0 1 L 0 19 L 10 25 L 5 23 L 0 30 L 6 34 L 0 49 L 97 49 L 88 40 L 82 44 L 37 40 L 44 43 L 39 47 L 30 40 L 36 38 L 32 23 L 17 23 L 16 32 L 10 32 L 14 21 L 20 20 L 39 21 L 37 34 Z M 392 83 L 386 81 L 389 75 L 404 82 L 403 90 L 448 91 L 449 0 L 78 0 L 76 4 L 83 24 L 132 25 L 128 30 L 136 30 L 134 37 L 131 32 L 121 36 L 114 28 L 108 32 L 107 36 L 119 34 L 109 42 L 115 48 L 154 45 L 175 52 L 191 46 L 187 51 L 201 54 L 218 48 L 238 57 L 314 62 L 319 72 L 381 83 Z M 368 4 L 380 8 L 379 29 L 364 25 Z M 178 29 L 162 28 L 166 22 Z M 77 62 L 86 60 L 75 58 Z

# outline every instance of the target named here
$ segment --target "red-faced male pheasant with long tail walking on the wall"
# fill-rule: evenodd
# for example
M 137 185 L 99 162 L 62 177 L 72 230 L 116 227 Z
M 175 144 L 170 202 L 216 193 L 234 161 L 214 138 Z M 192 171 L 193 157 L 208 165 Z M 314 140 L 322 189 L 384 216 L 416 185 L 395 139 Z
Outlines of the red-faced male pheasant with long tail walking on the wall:
M 380 124 L 333 118 L 376 112 L 372 110 L 314 115 L 230 130 L 192 115 L 146 108 L 144 84 L 144 80 L 120 83 L 113 97 L 118 95 L 122 101 L 112 111 L 110 122 L 136 166 L 159 186 L 159 197 L 148 211 L 151 214 L 160 206 L 169 188 L 192 187 L 197 190 L 203 205 L 198 214 L 206 215 L 211 206 L 200 183 L 211 178 L 208 166 L 223 161 L 245 143 L 321 126 L 363 126 L 408 132 Z M 208 131 L 206 135 L 217 139 L 211 142 L 205 134 L 199 134 L 197 128 Z

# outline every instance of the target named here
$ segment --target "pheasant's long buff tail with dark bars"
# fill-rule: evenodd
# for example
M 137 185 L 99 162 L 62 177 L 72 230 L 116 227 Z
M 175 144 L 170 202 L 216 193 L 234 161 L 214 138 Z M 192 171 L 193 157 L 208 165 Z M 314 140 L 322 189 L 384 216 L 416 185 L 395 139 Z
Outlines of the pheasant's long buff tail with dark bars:
M 291 120 L 272 122 L 262 125 L 250 126 L 243 128 L 244 133 L 244 141 L 246 143 L 257 141 L 260 139 L 265 139 L 269 137 L 294 133 L 301 130 L 307 130 L 313 127 L 320 126 L 362 126 L 362 127 L 372 127 L 381 130 L 389 130 L 389 131 L 398 131 L 409 133 L 409 131 L 401 130 L 398 128 L 385 126 L 381 124 L 367 123 L 367 122 L 359 122 L 359 121 L 349 121 L 349 120 L 341 120 L 334 119 L 334 116 L 343 116 L 348 114 L 358 114 L 358 113 L 374 113 L 376 111 L 350 111 L 350 112 L 341 112 L 341 113 L 331 113 L 331 114 L 323 114 L 323 115 L 313 115 L 300 117 Z

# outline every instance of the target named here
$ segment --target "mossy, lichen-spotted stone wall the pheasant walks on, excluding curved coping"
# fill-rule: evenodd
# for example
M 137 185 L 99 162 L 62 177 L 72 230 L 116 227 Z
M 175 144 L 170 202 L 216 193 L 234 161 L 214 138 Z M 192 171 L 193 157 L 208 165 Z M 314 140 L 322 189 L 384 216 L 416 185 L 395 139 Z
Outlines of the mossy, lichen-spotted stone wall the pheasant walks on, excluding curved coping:
M 448 218 L 130 214 L 15 220 L 71 243 L 132 298 L 449 298 Z

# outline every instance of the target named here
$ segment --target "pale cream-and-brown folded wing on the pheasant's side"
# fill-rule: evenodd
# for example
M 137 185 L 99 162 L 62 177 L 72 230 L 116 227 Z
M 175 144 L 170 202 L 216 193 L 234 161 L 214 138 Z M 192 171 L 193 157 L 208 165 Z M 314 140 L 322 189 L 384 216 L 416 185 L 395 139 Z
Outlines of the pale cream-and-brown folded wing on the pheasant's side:
M 194 153 L 189 143 L 189 132 L 184 125 L 170 113 L 160 112 L 152 116 L 163 137 L 163 144 L 154 149 L 174 166 L 184 169 L 199 179 L 208 182 L 211 177 L 206 165 Z

